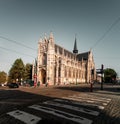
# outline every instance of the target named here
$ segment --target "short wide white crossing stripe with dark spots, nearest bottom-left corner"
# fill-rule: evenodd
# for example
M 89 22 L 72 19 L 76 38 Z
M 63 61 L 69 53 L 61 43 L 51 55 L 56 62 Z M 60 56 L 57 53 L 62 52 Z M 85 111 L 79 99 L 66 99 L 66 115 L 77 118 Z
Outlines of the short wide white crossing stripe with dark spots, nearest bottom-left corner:
M 23 121 L 26 124 L 37 124 L 40 120 L 42 120 L 42 118 L 40 117 L 37 117 L 35 115 L 20 110 L 11 111 L 8 112 L 7 114 L 20 121 Z

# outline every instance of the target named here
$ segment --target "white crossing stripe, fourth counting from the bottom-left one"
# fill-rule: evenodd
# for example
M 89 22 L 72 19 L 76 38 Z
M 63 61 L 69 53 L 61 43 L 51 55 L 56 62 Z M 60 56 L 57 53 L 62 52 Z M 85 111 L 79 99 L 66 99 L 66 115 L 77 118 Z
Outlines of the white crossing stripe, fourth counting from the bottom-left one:
M 91 103 L 81 103 L 81 102 L 76 102 L 76 101 L 70 101 L 70 100 L 67 100 L 67 99 L 54 99 L 54 101 L 57 101 L 57 102 L 65 102 L 65 103 L 69 103 L 69 104 L 75 104 L 75 105 L 82 105 L 82 106 L 92 106 L 92 107 L 96 107 L 98 109 L 104 109 L 104 106 L 100 106 L 100 105 L 97 105 L 97 104 L 91 104 Z

